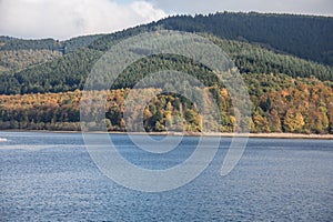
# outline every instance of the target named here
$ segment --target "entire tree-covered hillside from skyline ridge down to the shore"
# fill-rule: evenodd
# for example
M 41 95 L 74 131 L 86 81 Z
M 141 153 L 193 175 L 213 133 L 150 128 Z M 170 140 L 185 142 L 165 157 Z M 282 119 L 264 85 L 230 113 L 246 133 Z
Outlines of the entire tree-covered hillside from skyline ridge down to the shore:
M 203 36 L 231 58 L 249 88 L 252 132 L 333 133 L 333 19 L 230 12 L 170 17 L 67 41 L 0 37 L 0 128 L 80 130 L 82 89 L 98 59 L 123 39 L 163 29 Z M 111 91 L 91 92 L 108 97 L 108 130 L 127 130 L 125 122 L 131 121 L 123 117 L 127 95 L 147 73 L 162 68 L 189 73 L 214 95 L 221 121 L 211 122 L 211 129 L 236 129 L 232 100 L 212 70 L 188 58 L 161 54 L 128 67 Z M 173 131 L 202 130 L 196 105 L 176 94 L 152 98 L 143 118 L 147 131 L 165 131 L 168 125 Z

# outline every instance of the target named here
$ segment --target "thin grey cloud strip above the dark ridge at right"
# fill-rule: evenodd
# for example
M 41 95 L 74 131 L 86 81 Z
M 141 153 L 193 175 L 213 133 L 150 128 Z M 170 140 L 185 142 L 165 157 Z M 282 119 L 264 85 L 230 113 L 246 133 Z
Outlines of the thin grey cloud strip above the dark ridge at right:
M 259 11 L 333 16 L 332 0 L 148 0 L 169 13 Z

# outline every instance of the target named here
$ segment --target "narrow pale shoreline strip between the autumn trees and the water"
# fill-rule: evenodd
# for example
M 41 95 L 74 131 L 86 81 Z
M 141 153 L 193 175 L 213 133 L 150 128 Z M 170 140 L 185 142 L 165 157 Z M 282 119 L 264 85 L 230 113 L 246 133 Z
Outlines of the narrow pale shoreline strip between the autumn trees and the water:
M 1 132 L 1 131 L 0 131 Z M 83 133 L 82 131 L 48 131 L 48 130 L 2 130 L 2 132 L 43 132 L 43 133 Z M 173 137 L 221 137 L 221 138 L 266 138 L 266 139 L 317 139 L 333 140 L 333 134 L 302 134 L 302 133 L 230 133 L 230 132 L 123 132 L 123 131 L 92 131 L 84 133 L 109 133 L 131 135 L 173 135 Z

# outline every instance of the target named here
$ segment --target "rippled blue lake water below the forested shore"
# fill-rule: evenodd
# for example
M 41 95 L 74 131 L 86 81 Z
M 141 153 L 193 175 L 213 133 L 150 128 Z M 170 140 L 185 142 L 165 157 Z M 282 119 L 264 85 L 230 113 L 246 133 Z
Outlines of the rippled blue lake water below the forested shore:
M 111 135 L 137 165 L 165 169 L 185 160 L 196 138 L 167 154 Z M 0 132 L 0 221 L 333 221 L 333 141 L 250 139 L 226 176 L 222 139 L 209 168 L 184 186 L 132 191 L 103 175 L 80 133 Z M 161 139 L 155 137 L 155 139 Z

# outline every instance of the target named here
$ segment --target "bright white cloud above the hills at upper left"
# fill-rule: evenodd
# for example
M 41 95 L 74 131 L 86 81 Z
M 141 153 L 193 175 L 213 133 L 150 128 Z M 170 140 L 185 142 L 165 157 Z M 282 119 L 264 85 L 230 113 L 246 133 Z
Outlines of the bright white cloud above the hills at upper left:
M 0 36 L 68 39 L 105 33 L 165 17 L 147 1 L 0 0 Z

